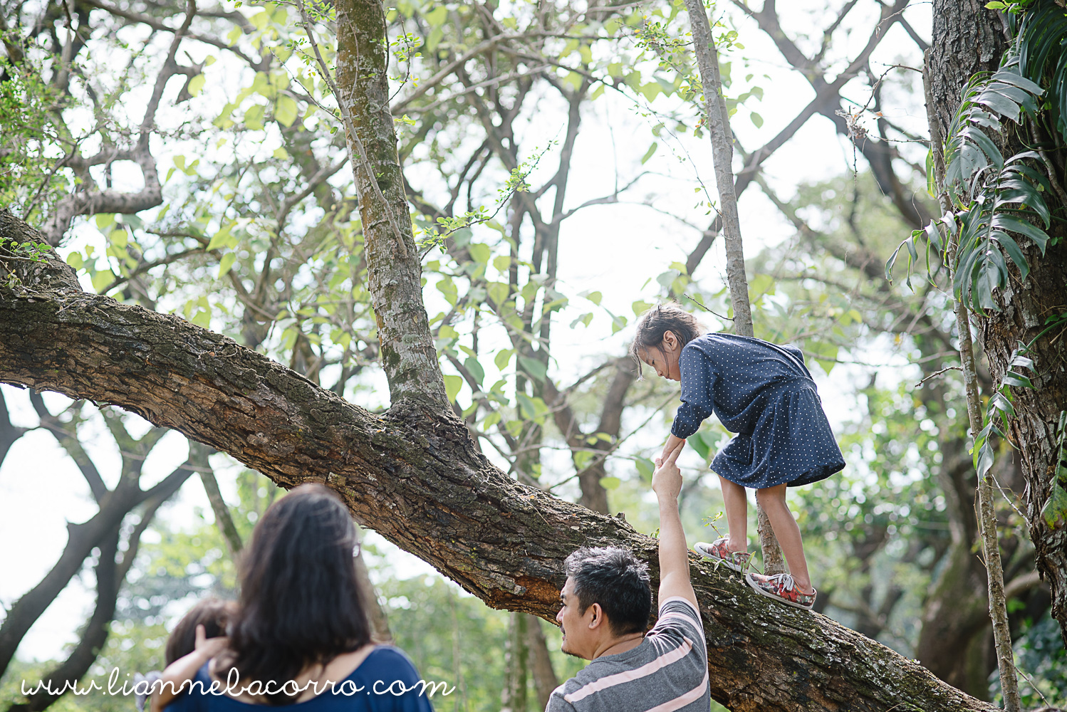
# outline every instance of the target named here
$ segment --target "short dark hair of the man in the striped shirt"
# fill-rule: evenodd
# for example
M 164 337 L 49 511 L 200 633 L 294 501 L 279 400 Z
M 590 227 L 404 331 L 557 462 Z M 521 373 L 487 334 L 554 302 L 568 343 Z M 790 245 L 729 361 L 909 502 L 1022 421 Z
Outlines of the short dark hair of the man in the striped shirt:
M 563 562 L 574 579 L 578 612 L 600 603 L 616 635 L 644 630 L 652 613 L 649 567 L 625 549 L 582 547 Z

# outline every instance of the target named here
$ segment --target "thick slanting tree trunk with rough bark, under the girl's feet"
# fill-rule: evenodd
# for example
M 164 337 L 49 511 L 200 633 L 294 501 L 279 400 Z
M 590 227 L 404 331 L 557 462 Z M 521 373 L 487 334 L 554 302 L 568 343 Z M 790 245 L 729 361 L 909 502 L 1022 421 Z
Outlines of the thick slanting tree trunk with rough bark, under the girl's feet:
M 284 487 L 324 482 L 359 521 L 494 608 L 552 620 L 563 559 L 582 545 L 630 548 L 658 580 L 654 539 L 510 480 L 450 414 L 410 400 L 367 412 L 174 315 L 74 287 L 4 287 L 0 381 L 121 405 Z M 733 710 L 993 709 L 822 615 L 696 556 L 690 567 L 712 695 Z

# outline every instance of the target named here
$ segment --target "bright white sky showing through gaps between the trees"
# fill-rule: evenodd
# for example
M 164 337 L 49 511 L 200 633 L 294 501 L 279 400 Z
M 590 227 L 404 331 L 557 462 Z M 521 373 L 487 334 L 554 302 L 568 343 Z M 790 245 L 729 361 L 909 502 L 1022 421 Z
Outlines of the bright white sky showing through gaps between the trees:
M 782 23 L 790 28 L 791 35 L 803 32 L 803 28 L 822 27 L 829 22 L 821 10 L 814 10 L 822 7 L 821 2 L 806 0 L 782 5 L 779 11 L 783 14 Z M 833 48 L 837 53 L 853 54 L 865 43 L 873 25 L 871 18 L 874 12 L 871 3 L 860 3 L 857 6 L 835 35 Z M 928 37 L 928 3 L 909 9 L 906 17 L 918 32 Z M 751 61 L 747 71 L 755 74 L 753 83 L 759 83 L 765 90 L 762 102 L 748 104 L 749 109 L 758 111 L 763 117 L 761 128 L 753 125 L 748 110 L 744 108 L 733 118 L 733 128 L 742 145 L 752 149 L 784 127 L 812 98 L 812 92 L 806 82 L 784 66 L 773 44 L 755 29 L 754 23 L 742 19 L 737 29 L 746 46 L 744 54 L 761 58 Z M 818 34 L 813 36 L 814 41 L 806 41 L 801 45 L 806 51 L 817 44 L 821 37 Z M 872 58 L 872 67 L 880 72 L 889 64 L 919 66 L 921 61 L 921 52 L 914 44 L 899 27 L 894 27 L 891 35 L 881 43 Z M 747 71 L 739 67 L 736 60 L 734 62 L 733 76 L 739 81 Z M 770 79 L 763 78 L 763 74 L 769 75 Z M 858 85 L 846 87 L 845 96 L 859 104 L 867 99 Z M 893 92 L 888 93 L 887 99 L 898 100 L 897 107 L 887 107 L 887 114 L 894 122 L 915 133 L 925 133 L 926 120 L 921 101 Z M 651 124 L 649 119 L 635 115 L 631 102 L 608 93 L 603 100 L 595 102 L 594 110 L 584 117 L 584 123 L 572 164 L 569 205 L 578 205 L 610 193 L 616 163 L 620 183 L 625 183 L 642 169 L 657 174 L 646 177 L 632 191 L 631 199 L 635 201 L 654 194 L 657 207 L 685 213 L 691 210 L 695 201 L 694 187 L 698 184 L 698 174 L 714 191 L 711 146 L 706 139 L 696 141 L 689 136 L 683 144 L 674 144 L 678 153 L 669 150 L 671 142 L 660 139 L 657 153 L 641 166 L 640 157 L 652 141 L 649 132 Z M 532 135 L 541 132 L 543 135 L 538 136 L 538 141 L 546 141 L 556 135 L 561 125 L 562 118 L 554 124 L 541 115 L 527 130 Z M 530 136 L 527 141 L 528 145 L 538 143 Z M 679 162 L 676 156 L 681 155 L 680 145 L 684 146 L 691 162 Z M 552 158 L 551 155 L 546 157 L 546 162 Z M 797 181 L 840 175 L 851 168 L 851 146 L 835 135 L 828 120 L 814 118 L 765 164 L 765 175 L 780 195 L 789 198 Z M 161 162 L 161 165 L 165 163 Z M 694 165 L 698 168 L 694 168 Z M 863 167 L 862 159 L 860 167 Z M 546 171 L 548 168 L 544 168 L 542 173 Z M 530 182 L 536 184 L 536 179 L 537 176 Z M 717 195 L 714 197 L 717 199 Z M 775 245 L 792 237 L 792 227 L 780 217 L 757 187 L 746 191 L 740 198 L 739 208 L 747 254 L 755 254 L 764 246 Z M 76 230 L 76 234 L 77 238 L 67 249 L 81 248 L 83 244 L 93 244 L 95 241 L 98 243 L 97 249 L 102 252 L 102 238 L 95 229 L 81 228 Z M 649 278 L 667 270 L 672 261 L 684 261 L 698 239 L 699 234 L 692 229 L 644 207 L 592 207 L 564 223 L 560 240 L 560 279 L 571 294 L 583 290 L 602 291 L 604 307 L 631 317 L 632 302 L 639 298 L 654 301 L 657 295 L 658 285 L 653 281 L 646 286 Z M 696 276 L 705 282 L 724 282 L 724 264 L 722 242 L 717 241 Z M 428 298 L 433 297 L 428 295 Z M 578 301 L 580 300 L 575 300 Z M 589 329 L 567 328 L 572 319 L 591 307 L 591 304 L 575 306 L 570 311 L 562 312 L 555 322 L 558 326 L 554 331 L 553 352 L 558 355 L 559 363 L 551 372 L 561 382 L 566 383 L 568 378 L 584 372 L 584 369 L 604 354 L 622 353 L 624 338 L 630 335 L 628 330 L 624 330 L 612 337 L 606 318 L 594 320 Z M 858 360 L 893 362 L 902 367 L 906 363 L 902 357 L 886 352 L 866 354 Z M 842 388 L 842 384 L 850 382 L 861 369 L 846 366 L 839 369 L 834 371 L 833 383 L 825 377 L 819 379 L 821 372 L 817 370 L 816 377 L 819 379 L 819 391 L 831 422 L 840 423 L 851 419 L 856 407 L 855 402 L 848 398 L 848 389 Z M 896 375 L 891 369 L 882 370 L 882 374 L 888 378 L 903 377 L 899 370 Z M 16 424 L 35 425 L 37 419 L 27 394 L 7 386 L 0 388 L 12 408 Z M 45 399 L 53 411 L 67 402 L 55 394 L 46 394 Z M 641 435 L 644 436 L 644 433 Z M 662 440 L 665 436 L 666 425 L 658 422 L 650 425 L 647 436 L 650 443 Z M 113 481 L 120 464 L 113 440 L 105 435 L 95 443 L 90 442 L 87 450 L 103 472 L 105 479 Z M 174 434 L 166 436 L 166 440 L 153 451 L 149 460 L 145 463 L 144 471 L 149 473 L 148 484 L 164 476 L 185 457 L 184 439 Z M 232 476 L 227 478 L 224 470 L 225 458 L 217 456 L 212 462 L 222 468 L 220 480 L 224 496 L 233 498 Z M 47 505 L 42 506 L 39 503 Z M 210 517 L 210 507 L 203 489 L 195 481 L 191 481 L 161 516 L 170 522 L 189 521 L 195 507 L 202 508 Z M 10 605 L 48 571 L 65 544 L 65 522 L 83 521 L 94 512 L 87 486 L 54 439 L 42 431 L 23 436 L 0 467 L 0 540 L 7 543 L 0 550 L 0 571 L 3 572 L 0 577 L 0 603 Z M 396 550 L 387 543 L 381 541 L 381 545 L 383 550 L 393 551 L 389 561 L 401 576 L 430 570 L 416 557 Z M 64 644 L 75 640 L 74 631 L 83 622 L 93 603 L 91 572 L 85 583 L 89 584 L 87 588 L 78 582 L 68 586 L 49 608 L 23 641 L 18 653 L 20 658 L 28 660 L 54 657 L 61 652 Z

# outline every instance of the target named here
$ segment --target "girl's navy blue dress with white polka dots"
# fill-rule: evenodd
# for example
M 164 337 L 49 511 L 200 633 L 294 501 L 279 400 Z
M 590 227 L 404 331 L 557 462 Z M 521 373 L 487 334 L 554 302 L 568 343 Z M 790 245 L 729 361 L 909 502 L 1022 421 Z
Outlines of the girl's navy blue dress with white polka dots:
M 679 358 L 682 406 L 671 433 L 687 438 L 714 411 L 731 433 L 712 460 L 730 482 L 761 489 L 825 480 L 845 467 L 803 353 L 761 339 L 705 334 Z

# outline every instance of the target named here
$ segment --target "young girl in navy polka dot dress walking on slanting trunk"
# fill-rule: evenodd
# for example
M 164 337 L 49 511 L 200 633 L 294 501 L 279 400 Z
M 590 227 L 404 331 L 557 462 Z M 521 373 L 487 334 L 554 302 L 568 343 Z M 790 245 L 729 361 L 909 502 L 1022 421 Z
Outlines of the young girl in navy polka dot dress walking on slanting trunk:
M 692 314 L 660 305 L 641 317 L 631 344 L 639 363 L 682 382 L 682 406 L 663 459 L 685 447 L 685 438 L 713 411 L 723 427 L 737 434 L 712 460 L 722 485 L 730 535 L 698 543 L 696 549 L 745 572 L 751 556 L 745 488 L 755 489 L 792 575 L 748 573 L 745 580 L 762 596 L 810 610 L 816 592 L 800 530 L 785 505 L 785 488 L 824 480 L 845 467 L 815 382 L 796 346 L 702 331 Z

